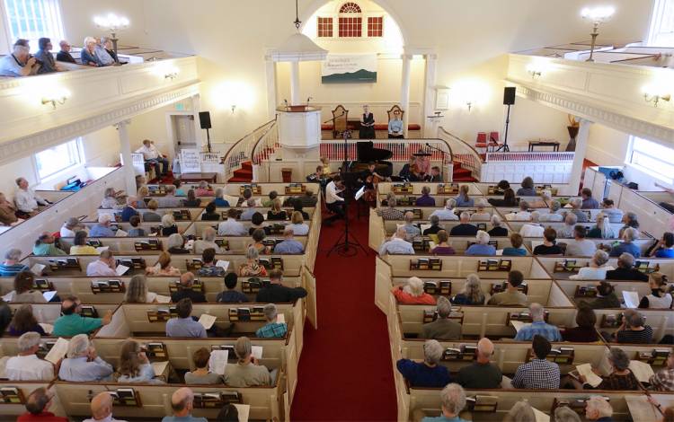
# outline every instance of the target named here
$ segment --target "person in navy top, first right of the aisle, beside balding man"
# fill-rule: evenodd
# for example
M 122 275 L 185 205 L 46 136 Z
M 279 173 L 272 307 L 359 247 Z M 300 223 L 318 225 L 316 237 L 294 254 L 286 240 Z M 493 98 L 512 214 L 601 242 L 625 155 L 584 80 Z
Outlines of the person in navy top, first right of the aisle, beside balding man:
M 443 388 L 452 381 L 448 368 L 439 365 L 444 351 L 438 340 L 426 340 L 423 344 L 423 362 L 400 359 L 395 365 L 412 387 Z

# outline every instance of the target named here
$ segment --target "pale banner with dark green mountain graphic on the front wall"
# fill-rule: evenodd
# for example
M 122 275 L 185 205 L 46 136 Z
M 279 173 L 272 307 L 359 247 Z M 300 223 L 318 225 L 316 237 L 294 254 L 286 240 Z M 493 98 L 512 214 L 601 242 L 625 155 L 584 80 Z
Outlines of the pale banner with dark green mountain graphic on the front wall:
M 376 54 L 329 54 L 321 66 L 323 84 L 375 84 Z

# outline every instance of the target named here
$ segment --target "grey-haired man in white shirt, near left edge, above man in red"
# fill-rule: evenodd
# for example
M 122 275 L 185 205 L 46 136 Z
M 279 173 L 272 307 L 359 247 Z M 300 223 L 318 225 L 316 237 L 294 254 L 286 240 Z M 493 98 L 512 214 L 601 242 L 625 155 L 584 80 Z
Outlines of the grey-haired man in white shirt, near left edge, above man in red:
M 51 381 L 54 379 L 54 365 L 40 359 L 36 353 L 40 349 L 40 334 L 27 332 L 16 342 L 19 355 L 7 359 L 4 374 L 10 381 Z M 60 363 L 59 363 L 60 364 Z

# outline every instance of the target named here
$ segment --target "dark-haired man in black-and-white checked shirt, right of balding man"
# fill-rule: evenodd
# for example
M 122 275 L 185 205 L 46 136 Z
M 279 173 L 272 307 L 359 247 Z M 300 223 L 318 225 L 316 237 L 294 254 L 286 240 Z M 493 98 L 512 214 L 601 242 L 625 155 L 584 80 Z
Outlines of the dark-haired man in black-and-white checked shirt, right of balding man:
M 552 345 L 543 336 L 534 336 L 532 342 L 536 357 L 530 362 L 519 365 L 515 377 L 512 379 L 514 388 L 525 389 L 558 389 L 559 388 L 559 365 L 545 360 L 550 353 Z

